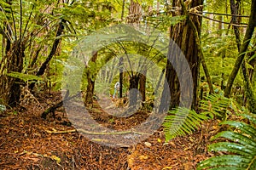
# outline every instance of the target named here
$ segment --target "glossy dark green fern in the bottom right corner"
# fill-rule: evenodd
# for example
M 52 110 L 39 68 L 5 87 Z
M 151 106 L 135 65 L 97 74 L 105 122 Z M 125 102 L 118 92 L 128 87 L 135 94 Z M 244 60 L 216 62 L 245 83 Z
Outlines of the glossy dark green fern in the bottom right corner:
M 256 169 L 256 116 L 241 114 L 251 124 L 245 122 L 225 121 L 221 124 L 235 127 L 232 131 L 218 133 L 213 139 L 224 138 L 230 142 L 218 142 L 211 144 L 209 150 L 224 151 L 230 154 L 211 157 L 201 161 L 197 169 Z

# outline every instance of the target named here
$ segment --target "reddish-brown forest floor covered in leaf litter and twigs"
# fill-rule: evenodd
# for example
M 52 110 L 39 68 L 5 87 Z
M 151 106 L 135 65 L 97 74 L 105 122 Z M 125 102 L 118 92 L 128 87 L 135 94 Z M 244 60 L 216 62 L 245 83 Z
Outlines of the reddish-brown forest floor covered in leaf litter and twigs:
M 190 170 L 213 156 L 207 144 L 218 131 L 217 122 L 205 122 L 199 131 L 167 144 L 160 127 L 138 144 L 114 148 L 77 133 L 63 108 L 55 111 L 55 118 L 41 118 L 42 112 L 58 101 L 60 93 L 45 94 L 38 99 L 38 105 L 28 104 L 23 110 L 0 114 L 0 169 Z M 111 116 L 99 111 L 97 108 L 91 113 L 97 122 L 115 129 L 132 127 L 147 115 L 138 112 L 126 117 L 124 124 L 120 122 L 123 118 L 109 122 Z

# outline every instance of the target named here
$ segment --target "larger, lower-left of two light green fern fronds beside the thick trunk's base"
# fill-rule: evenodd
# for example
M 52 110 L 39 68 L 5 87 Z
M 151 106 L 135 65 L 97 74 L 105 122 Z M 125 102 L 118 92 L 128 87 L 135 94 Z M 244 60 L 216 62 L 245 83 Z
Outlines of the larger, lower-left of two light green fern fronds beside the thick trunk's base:
M 163 123 L 164 132 L 166 134 L 166 141 L 177 136 L 184 136 L 193 133 L 201 123 L 209 117 L 195 111 L 190 111 L 187 108 L 178 107 L 169 112 Z

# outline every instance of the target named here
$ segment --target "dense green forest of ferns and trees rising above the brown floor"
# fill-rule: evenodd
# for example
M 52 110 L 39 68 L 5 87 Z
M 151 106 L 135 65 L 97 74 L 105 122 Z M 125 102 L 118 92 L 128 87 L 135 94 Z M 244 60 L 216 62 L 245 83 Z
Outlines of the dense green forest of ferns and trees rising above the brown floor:
M 0 0 L 0 18 L 0 112 L 118 94 L 125 116 L 166 113 L 166 143 L 219 120 L 198 169 L 256 168 L 256 0 Z

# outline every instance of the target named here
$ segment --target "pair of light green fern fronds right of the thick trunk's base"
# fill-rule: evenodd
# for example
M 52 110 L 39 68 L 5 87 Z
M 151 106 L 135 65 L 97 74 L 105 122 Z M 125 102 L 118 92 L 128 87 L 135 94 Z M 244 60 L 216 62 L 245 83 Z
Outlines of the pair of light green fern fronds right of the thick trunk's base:
M 228 109 L 236 109 L 232 99 L 225 98 L 220 94 L 212 94 L 201 101 L 201 113 L 183 107 L 169 111 L 169 115 L 163 122 L 166 142 L 177 136 L 195 132 L 201 127 L 202 122 L 212 119 L 214 116 L 221 116 L 229 111 Z

